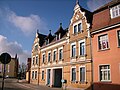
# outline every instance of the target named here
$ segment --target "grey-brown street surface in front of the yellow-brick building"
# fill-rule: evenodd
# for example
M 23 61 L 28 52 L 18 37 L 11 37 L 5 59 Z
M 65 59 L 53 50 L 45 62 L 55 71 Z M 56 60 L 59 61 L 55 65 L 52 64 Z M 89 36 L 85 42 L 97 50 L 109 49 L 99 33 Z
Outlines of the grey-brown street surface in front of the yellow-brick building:
M 0 78 L 0 90 L 2 90 L 2 79 Z M 50 88 L 47 86 L 33 85 L 26 82 L 18 82 L 17 79 L 5 79 L 4 90 L 62 90 L 61 88 Z

